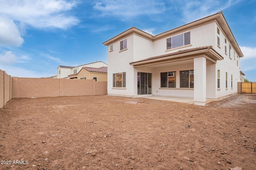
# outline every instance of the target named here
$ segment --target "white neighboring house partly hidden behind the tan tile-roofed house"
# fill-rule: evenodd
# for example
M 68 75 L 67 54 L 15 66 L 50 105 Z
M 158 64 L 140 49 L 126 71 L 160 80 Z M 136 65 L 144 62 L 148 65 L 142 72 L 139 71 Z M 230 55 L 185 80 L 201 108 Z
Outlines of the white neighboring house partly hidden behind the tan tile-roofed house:
M 75 66 L 75 67 L 73 67 L 73 66 L 58 66 L 58 68 L 57 68 L 58 78 L 68 78 L 68 75 L 78 73 L 83 67 L 99 68 L 102 66 L 108 66 L 108 64 L 106 64 L 102 61 L 97 61 L 94 63 L 84 64 L 84 65 Z

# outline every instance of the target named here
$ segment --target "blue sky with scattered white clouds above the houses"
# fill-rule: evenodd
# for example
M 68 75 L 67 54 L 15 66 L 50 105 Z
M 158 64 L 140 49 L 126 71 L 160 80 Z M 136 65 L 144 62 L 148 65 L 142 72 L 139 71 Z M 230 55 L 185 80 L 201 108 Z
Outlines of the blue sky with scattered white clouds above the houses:
M 103 61 L 103 42 L 135 26 L 152 35 L 223 11 L 256 82 L 256 0 L 0 0 L 0 69 L 57 75 L 59 65 Z

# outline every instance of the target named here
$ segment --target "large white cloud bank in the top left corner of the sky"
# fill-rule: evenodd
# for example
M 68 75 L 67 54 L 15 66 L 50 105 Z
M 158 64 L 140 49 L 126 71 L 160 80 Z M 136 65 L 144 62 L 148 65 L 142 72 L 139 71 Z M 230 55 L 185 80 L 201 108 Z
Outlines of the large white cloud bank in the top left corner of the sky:
M 74 16 L 64 14 L 77 5 L 74 0 L 0 0 L 0 4 L 1 15 L 36 28 L 67 29 L 79 22 Z

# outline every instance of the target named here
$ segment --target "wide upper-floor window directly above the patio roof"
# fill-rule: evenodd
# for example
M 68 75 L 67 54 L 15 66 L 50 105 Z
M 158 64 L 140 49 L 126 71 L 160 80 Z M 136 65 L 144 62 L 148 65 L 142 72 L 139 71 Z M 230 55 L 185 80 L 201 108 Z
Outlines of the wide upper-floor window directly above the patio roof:
M 190 44 L 190 32 L 166 39 L 167 49 L 174 49 L 188 44 Z

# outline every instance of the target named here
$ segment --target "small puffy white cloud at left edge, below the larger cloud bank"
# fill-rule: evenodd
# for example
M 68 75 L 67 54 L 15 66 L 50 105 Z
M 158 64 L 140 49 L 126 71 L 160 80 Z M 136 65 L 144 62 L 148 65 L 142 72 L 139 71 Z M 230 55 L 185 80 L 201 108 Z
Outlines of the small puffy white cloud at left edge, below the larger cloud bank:
M 5 47 L 22 45 L 24 40 L 12 20 L 0 16 L 0 28 L 0 45 Z

